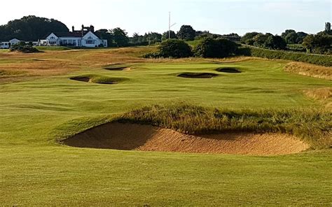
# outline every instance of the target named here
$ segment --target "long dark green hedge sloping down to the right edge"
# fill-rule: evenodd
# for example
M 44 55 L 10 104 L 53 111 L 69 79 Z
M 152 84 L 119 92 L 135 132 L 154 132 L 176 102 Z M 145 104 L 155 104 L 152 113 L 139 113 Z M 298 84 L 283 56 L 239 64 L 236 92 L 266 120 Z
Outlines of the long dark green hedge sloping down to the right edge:
M 321 66 L 332 66 L 332 57 L 323 55 L 305 55 L 284 51 L 264 50 L 260 48 L 251 48 L 242 46 L 239 55 L 247 55 L 253 57 L 265 57 L 268 59 L 288 59 L 297 62 L 307 62 Z

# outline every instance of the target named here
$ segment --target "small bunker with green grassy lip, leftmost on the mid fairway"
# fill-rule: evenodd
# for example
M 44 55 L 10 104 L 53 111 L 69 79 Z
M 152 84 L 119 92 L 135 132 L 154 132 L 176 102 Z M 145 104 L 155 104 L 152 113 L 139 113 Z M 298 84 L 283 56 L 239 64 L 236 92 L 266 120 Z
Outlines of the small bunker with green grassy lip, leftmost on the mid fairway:
M 125 80 L 128 80 L 127 78 L 113 78 L 108 76 L 96 76 L 96 75 L 86 75 L 86 76 L 76 76 L 73 78 L 70 78 L 70 80 L 76 80 L 81 81 L 85 83 L 98 83 L 98 84 L 118 84 Z

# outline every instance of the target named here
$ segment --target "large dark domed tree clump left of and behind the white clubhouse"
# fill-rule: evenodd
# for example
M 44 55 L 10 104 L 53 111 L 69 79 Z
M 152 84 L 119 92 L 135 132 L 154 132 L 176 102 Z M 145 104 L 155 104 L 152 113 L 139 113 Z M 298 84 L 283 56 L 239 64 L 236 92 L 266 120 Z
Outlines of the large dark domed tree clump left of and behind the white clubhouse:
M 38 41 L 51 32 L 68 32 L 65 24 L 54 19 L 25 16 L 0 26 L 0 41 L 18 38 L 22 41 Z

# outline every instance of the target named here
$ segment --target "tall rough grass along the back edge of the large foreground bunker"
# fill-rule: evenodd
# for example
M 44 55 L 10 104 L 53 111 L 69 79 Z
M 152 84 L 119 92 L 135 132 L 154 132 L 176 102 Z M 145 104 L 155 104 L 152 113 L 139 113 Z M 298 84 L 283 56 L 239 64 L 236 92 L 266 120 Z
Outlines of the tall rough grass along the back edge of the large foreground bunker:
M 227 110 L 199 106 L 146 106 L 117 120 L 153 124 L 187 134 L 228 131 L 288 133 L 313 148 L 332 147 L 332 113 L 324 110 Z

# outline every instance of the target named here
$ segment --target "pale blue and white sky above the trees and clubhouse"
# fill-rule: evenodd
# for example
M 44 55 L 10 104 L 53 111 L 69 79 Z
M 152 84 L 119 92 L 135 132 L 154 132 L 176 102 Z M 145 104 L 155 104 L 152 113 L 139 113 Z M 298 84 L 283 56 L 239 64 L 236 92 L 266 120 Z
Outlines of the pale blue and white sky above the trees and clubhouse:
M 0 24 L 24 15 L 54 18 L 71 26 L 95 25 L 96 29 L 121 27 L 134 32 L 163 32 L 172 12 L 172 30 L 191 24 L 196 30 L 217 34 L 248 31 L 281 34 L 285 29 L 317 33 L 332 22 L 332 1 L 226 1 L 226 0 L 13 0 L 2 1 Z

